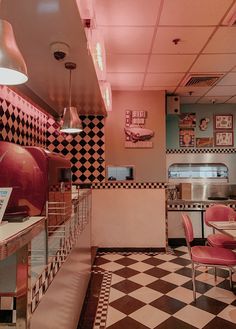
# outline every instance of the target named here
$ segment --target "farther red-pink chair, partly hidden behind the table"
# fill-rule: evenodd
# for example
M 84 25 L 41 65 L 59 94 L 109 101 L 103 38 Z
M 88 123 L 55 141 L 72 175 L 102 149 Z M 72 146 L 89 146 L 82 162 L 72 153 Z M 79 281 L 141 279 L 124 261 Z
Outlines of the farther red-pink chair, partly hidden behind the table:
M 215 204 L 209 208 L 207 208 L 205 212 L 205 223 L 209 225 L 209 221 L 228 221 L 229 216 L 235 217 L 235 211 L 223 204 Z M 222 234 L 216 233 L 210 234 L 207 236 L 207 244 L 212 247 L 223 247 L 227 249 L 236 249 L 236 240 L 232 237 Z

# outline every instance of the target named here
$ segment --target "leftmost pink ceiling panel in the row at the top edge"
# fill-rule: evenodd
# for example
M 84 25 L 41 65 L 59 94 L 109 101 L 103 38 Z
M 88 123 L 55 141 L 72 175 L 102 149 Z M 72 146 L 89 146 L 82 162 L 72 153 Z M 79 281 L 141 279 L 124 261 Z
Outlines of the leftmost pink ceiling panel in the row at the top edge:
M 68 0 L 67 0 L 68 1 Z M 98 25 L 155 25 L 160 0 L 99 0 L 96 17 Z

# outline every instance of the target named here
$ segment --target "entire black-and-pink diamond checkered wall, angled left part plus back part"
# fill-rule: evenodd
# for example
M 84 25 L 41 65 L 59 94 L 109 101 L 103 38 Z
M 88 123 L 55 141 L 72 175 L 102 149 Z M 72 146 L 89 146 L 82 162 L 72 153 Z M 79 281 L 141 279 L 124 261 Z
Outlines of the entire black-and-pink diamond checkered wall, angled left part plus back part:
M 75 184 L 105 179 L 103 116 L 81 116 L 79 135 L 59 132 L 59 124 L 6 86 L 0 86 L 0 140 L 39 146 L 71 161 Z

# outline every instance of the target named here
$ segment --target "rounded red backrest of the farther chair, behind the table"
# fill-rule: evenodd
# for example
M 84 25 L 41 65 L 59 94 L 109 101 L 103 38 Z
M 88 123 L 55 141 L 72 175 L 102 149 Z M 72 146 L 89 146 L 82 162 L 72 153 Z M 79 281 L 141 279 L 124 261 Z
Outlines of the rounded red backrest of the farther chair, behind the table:
M 232 208 L 224 204 L 214 204 L 207 208 L 204 218 L 206 225 L 209 226 L 209 221 L 228 221 L 229 216 L 235 216 L 235 211 Z

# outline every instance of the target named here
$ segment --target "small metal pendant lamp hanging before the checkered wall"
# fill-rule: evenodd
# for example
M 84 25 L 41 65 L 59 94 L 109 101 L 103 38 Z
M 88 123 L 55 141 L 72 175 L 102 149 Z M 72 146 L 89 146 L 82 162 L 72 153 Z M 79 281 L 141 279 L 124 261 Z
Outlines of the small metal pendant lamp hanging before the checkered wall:
M 79 118 L 77 108 L 71 106 L 71 71 L 76 69 L 76 64 L 67 62 L 65 63 L 65 68 L 70 70 L 70 80 L 69 80 L 69 106 L 65 107 L 63 115 L 63 124 L 60 129 L 61 132 L 67 134 L 78 134 L 83 130 L 82 122 Z

